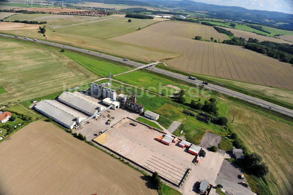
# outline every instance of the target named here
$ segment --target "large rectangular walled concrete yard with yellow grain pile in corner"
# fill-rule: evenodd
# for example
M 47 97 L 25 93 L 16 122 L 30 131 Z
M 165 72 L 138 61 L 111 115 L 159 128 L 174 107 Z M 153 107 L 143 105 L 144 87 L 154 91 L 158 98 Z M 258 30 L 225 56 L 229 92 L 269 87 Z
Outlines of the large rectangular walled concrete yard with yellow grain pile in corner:
M 94 140 L 146 169 L 158 172 L 167 181 L 179 184 L 193 165 L 195 155 L 186 152 L 186 148 L 179 147 L 178 143 L 158 142 L 156 138 L 162 133 L 140 123 L 132 126 L 131 122 L 125 118 Z

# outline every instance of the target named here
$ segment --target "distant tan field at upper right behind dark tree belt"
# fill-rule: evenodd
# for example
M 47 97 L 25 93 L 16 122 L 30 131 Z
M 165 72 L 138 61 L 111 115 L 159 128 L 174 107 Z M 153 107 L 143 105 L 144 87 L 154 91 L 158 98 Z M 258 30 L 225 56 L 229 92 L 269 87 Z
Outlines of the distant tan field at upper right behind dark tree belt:
M 219 26 L 219 27 L 224 28 L 224 27 L 221 27 L 221 26 Z M 290 45 L 293 44 L 293 43 L 290 43 L 288 41 L 281 40 L 282 38 L 281 39 L 276 39 L 276 38 L 273 38 L 273 37 L 257 35 L 255 33 L 251 33 L 251 32 L 244 31 L 244 30 L 233 29 L 233 28 L 224 28 L 224 29 L 230 30 L 236 37 L 243 37 L 246 40 L 248 40 L 248 38 L 253 38 L 253 39 L 258 39 L 260 42 L 262 42 L 262 41 L 272 41 L 272 42 L 276 42 L 276 43 L 288 43 Z

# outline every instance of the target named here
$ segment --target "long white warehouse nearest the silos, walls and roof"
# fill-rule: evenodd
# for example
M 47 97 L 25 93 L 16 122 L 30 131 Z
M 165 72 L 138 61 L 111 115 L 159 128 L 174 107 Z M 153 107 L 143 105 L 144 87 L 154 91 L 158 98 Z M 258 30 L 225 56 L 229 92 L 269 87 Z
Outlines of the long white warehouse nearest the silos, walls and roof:
M 83 113 L 86 113 L 90 116 L 96 114 L 98 111 L 103 110 L 105 107 L 99 105 L 98 103 L 91 102 L 81 95 L 77 95 L 71 92 L 63 92 L 59 97 L 58 100 L 76 110 L 79 110 Z

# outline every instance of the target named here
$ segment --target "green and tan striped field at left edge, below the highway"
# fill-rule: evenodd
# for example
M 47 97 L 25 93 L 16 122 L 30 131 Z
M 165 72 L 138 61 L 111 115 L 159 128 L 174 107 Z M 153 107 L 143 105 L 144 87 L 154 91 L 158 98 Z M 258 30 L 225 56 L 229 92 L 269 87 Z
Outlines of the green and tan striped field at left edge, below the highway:
M 98 78 L 57 50 L 6 38 L 0 38 L 0 47 L 0 83 L 7 91 L 0 94 L 1 104 L 43 96 Z

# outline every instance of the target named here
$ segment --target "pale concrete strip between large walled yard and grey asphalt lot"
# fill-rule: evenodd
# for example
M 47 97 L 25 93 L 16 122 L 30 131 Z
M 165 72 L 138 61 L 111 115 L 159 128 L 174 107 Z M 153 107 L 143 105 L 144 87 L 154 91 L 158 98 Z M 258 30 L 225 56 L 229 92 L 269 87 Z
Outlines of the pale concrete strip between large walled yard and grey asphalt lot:
M 193 165 L 190 174 L 180 187 L 183 194 L 198 194 L 196 183 L 206 179 L 210 184 L 214 184 L 224 160 L 223 156 L 206 151 L 205 157 L 197 164 Z

